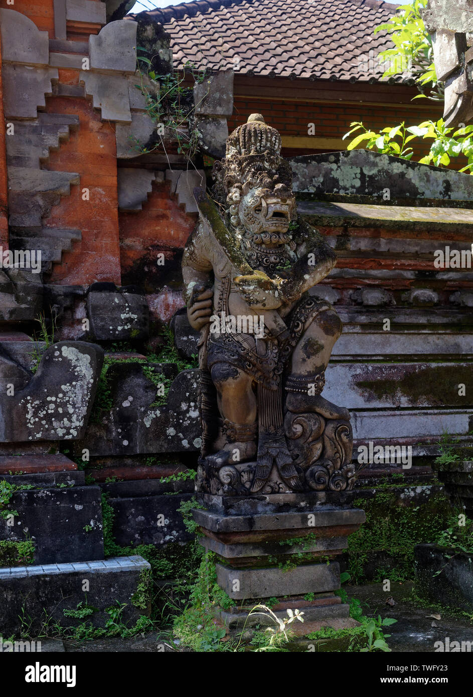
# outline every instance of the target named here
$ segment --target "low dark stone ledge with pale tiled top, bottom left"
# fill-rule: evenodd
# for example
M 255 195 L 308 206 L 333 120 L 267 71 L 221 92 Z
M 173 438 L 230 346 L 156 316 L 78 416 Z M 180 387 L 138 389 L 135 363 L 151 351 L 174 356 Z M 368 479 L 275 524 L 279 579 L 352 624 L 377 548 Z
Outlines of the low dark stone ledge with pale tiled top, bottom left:
M 25 628 L 33 636 L 48 618 L 62 627 L 75 627 L 84 621 L 103 627 L 110 618 L 106 609 L 117 602 L 126 604 L 121 620 L 131 627 L 140 615 L 149 616 L 149 603 L 146 608 L 137 607 L 133 595 L 142 572 L 150 568 L 142 557 L 133 556 L 0 569 L 0 636 L 19 634 L 23 612 Z M 87 591 L 84 581 L 88 581 Z M 79 603 L 82 608 L 93 608 L 93 613 L 82 619 L 64 615 L 64 610 L 75 610 Z

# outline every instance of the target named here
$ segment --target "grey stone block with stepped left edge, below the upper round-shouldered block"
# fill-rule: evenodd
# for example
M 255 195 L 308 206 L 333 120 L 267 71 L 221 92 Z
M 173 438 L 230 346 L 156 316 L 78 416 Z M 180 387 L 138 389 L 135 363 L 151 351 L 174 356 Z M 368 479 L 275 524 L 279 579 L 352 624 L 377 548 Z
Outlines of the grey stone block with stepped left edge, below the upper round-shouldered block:
M 92 97 L 93 107 L 101 110 L 104 121 L 131 122 L 128 82 L 123 75 L 82 70 L 80 81 L 85 84 L 87 96 Z M 120 157 L 118 153 L 117 157 Z

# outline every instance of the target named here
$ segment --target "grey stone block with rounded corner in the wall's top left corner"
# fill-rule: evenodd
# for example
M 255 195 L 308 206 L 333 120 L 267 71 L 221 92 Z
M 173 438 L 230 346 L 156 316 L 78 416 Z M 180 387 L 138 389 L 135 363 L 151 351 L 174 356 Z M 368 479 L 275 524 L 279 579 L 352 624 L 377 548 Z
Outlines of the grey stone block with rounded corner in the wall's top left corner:
M 47 66 L 50 61 L 47 31 L 39 31 L 29 17 L 16 10 L 1 8 L 0 31 L 1 58 L 4 63 Z

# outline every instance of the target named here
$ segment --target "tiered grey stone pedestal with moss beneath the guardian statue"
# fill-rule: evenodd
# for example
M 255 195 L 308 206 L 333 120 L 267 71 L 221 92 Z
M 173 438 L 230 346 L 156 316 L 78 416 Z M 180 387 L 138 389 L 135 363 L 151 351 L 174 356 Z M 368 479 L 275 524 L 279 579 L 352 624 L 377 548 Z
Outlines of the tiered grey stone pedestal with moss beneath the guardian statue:
M 276 616 L 287 618 L 287 608 L 304 613 L 304 622 L 290 627 L 299 636 L 356 624 L 349 606 L 335 595 L 340 588 L 337 556 L 365 514 L 317 503 L 321 494 L 200 495 L 206 510 L 194 509 L 193 516 L 204 535 L 200 543 L 215 555 L 217 583 L 235 602 L 230 611 L 217 611 L 230 632 L 270 624 L 266 615 L 248 617 L 269 598 L 278 600 Z

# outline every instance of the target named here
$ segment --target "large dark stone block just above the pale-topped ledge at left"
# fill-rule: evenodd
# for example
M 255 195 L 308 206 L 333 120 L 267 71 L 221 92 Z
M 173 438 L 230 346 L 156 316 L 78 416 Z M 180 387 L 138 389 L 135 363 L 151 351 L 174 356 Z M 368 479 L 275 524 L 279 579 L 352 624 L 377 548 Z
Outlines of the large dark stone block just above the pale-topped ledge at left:
M 8 506 L 17 514 L 13 526 L 0 519 L 0 539 L 23 542 L 27 535 L 36 564 L 103 558 L 99 487 L 17 491 Z

